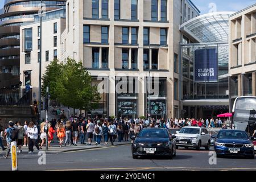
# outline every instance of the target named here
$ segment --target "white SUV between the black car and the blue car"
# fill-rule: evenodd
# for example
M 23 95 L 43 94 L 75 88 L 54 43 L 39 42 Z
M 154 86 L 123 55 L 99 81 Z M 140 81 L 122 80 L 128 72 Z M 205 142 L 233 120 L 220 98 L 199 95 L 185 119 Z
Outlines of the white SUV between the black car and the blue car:
M 205 150 L 210 149 L 210 134 L 204 127 L 183 127 L 180 131 L 176 131 L 176 149 L 179 146 L 188 148 L 195 147 L 200 150 L 205 147 Z

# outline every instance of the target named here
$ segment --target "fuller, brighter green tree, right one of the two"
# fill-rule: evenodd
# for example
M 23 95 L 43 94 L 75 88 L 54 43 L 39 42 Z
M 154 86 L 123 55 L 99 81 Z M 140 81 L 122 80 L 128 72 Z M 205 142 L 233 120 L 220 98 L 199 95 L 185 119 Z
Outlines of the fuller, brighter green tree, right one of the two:
M 97 85 L 92 86 L 92 78 L 88 71 L 73 59 L 63 65 L 61 76 L 57 80 L 55 93 L 57 101 L 74 109 L 86 111 L 96 109 L 101 99 Z

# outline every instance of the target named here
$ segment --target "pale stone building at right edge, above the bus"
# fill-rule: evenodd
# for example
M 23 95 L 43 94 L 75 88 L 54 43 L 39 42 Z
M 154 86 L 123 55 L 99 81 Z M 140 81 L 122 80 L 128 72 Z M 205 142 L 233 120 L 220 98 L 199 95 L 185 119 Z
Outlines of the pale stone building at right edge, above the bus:
M 238 96 L 256 96 L 256 4 L 230 16 L 230 110 Z

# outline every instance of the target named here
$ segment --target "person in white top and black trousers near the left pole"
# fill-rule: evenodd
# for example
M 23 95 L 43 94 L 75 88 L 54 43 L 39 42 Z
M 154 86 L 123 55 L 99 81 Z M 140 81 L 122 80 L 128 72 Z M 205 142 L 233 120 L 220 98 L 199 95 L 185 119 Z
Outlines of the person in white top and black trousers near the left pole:
M 27 137 L 28 137 L 28 154 L 33 154 L 33 147 L 35 146 L 38 151 L 40 148 L 38 146 L 38 127 L 34 124 L 34 122 L 30 122 L 27 128 Z

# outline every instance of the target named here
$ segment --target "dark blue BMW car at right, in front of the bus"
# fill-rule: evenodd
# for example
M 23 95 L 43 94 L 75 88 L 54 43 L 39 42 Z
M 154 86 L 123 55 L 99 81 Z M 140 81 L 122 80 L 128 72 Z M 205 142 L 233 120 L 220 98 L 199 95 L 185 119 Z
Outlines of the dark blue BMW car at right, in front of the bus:
M 254 137 L 245 131 L 220 130 L 214 143 L 214 151 L 220 156 L 245 156 L 254 159 Z

